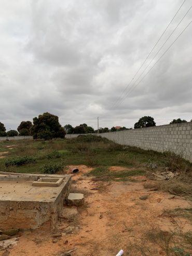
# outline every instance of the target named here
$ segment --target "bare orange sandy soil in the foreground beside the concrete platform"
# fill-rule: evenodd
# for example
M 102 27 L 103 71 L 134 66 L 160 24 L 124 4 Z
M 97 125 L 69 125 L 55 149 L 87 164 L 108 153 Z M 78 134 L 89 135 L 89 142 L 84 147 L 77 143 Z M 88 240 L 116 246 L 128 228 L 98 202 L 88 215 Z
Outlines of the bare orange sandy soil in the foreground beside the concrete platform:
M 137 182 L 101 182 L 83 176 L 91 168 L 70 166 L 80 171 L 73 175 L 72 190 L 85 194 L 85 206 L 63 208 L 55 239 L 52 233 L 42 230 L 21 233 L 18 244 L 9 250 L 9 256 L 60 256 L 67 250 L 73 256 L 113 256 L 123 249 L 125 255 L 144 255 L 134 245 L 153 249 L 153 255 L 165 255 L 158 245 L 144 240 L 149 230 L 175 231 L 180 227 L 191 231 L 190 220 L 164 214 L 177 207 L 191 208 L 191 202 L 168 193 L 147 191 L 143 187 L 146 177 L 134 177 Z M 117 167 L 113 170 L 119 169 Z M 141 200 L 142 195 L 148 195 Z M 172 198 L 172 199 L 169 199 Z M 1 255 L 1 252 L 0 252 Z M 148 254 L 147 254 L 148 255 Z

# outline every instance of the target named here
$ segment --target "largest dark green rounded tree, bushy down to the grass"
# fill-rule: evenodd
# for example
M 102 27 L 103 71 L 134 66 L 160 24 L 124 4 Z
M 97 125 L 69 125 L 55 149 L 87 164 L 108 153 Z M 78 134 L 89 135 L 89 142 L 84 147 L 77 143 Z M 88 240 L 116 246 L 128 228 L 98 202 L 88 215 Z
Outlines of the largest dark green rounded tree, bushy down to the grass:
M 33 118 L 31 132 L 34 139 L 50 140 L 65 137 L 65 130 L 61 127 L 58 116 L 48 112 Z

